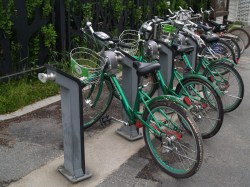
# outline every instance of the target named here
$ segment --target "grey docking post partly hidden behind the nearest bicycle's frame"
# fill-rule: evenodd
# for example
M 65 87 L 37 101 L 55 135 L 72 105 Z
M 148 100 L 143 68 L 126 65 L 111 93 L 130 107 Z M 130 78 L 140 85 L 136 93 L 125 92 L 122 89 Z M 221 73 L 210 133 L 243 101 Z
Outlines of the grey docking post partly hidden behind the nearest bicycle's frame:
M 136 90 L 138 88 L 138 76 L 136 74 L 136 70 L 133 68 L 134 58 L 126 53 L 123 54 L 124 58 L 120 62 L 123 65 L 122 90 L 124 91 L 129 105 L 131 107 L 134 107 L 134 102 L 136 99 Z M 122 119 L 123 121 L 128 121 L 128 117 L 124 110 L 122 113 Z M 130 141 L 138 140 L 143 137 L 143 135 L 139 132 L 139 129 L 137 129 L 135 125 L 122 126 L 116 132 Z

